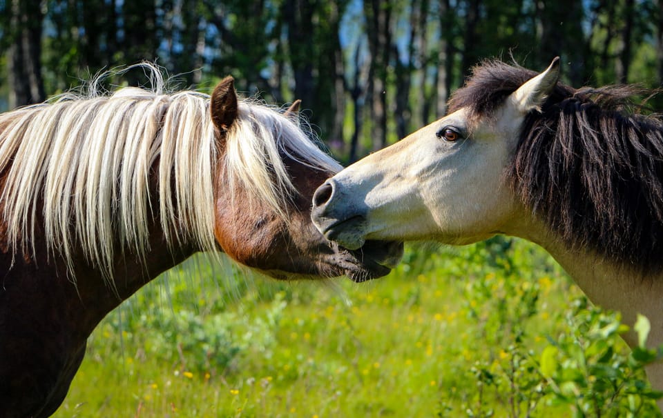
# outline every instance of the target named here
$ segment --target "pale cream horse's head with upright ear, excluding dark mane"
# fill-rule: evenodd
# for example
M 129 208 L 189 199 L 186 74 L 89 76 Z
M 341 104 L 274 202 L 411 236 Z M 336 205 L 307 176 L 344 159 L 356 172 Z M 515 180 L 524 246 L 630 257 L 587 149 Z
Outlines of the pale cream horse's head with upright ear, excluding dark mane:
M 539 110 L 558 78 L 556 58 L 511 90 L 489 117 L 452 100 L 450 115 L 320 186 L 314 223 L 327 239 L 349 249 L 367 239 L 465 244 L 506 232 L 522 212 L 505 170 L 523 120 Z

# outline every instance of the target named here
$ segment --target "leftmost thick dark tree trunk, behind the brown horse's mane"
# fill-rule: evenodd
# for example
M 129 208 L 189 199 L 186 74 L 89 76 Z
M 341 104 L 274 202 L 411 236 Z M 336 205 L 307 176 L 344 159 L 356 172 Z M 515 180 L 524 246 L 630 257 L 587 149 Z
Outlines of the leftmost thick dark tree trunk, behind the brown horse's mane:
M 16 108 L 46 99 L 41 77 L 41 27 L 44 14 L 39 0 L 12 0 L 8 50 L 9 106 Z

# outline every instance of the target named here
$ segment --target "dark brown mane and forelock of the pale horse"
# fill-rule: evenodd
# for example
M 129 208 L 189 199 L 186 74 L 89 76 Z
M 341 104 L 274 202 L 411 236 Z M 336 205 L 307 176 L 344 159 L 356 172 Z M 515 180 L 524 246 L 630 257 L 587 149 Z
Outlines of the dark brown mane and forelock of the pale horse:
M 454 93 L 450 111 L 492 117 L 536 73 L 490 61 Z M 572 249 L 644 273 L 663 268 L 663 122 L 635 112 L 634 86 L 575 90 L 558 83 L 532 111 L 506 170 L 521 201 Z

